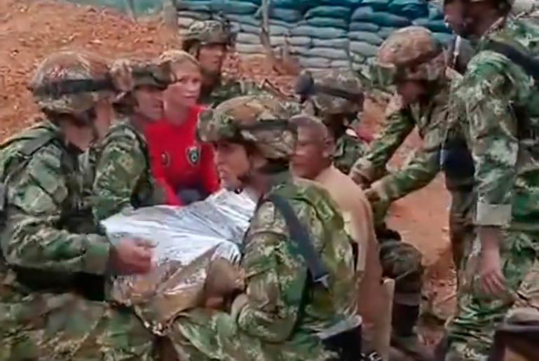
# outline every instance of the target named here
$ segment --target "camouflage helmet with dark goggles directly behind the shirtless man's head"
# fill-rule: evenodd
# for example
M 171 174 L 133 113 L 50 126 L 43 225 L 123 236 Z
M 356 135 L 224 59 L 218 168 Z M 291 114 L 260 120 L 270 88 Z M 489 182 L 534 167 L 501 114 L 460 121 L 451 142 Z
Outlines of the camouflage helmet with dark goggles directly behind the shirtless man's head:
M 363 86 L 352 71 L 303 71 L 296 93 L 306 98 L 318 115 L 357 114 L 363 108 Z

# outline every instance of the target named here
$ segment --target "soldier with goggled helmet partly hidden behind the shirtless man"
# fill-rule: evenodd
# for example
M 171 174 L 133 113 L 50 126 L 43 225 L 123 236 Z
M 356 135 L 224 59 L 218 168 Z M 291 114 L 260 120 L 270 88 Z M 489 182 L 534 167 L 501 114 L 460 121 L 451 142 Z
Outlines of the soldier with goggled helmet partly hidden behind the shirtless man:
M 335 139 L 334 165 L 348 175 L 353 163 L 367 151 L 367 143 L 350 128 L 363 110 L 363 88 L 350 71 L 304 71 L 296 82 L 304 111 L 322 119 Z

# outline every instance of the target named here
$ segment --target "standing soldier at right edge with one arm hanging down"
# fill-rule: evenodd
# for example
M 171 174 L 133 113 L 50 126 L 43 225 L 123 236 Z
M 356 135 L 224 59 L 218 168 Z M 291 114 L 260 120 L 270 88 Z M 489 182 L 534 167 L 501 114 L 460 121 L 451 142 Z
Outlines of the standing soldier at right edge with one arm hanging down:
M 508 15 L 509 0 L 462 6 L 463 34 L 476 55 L 453 88 L 451 121 L 475 165 L 477 239 L 448 326 L 446 360 L 486 360 L 512 304 L 537 308 L 536 279 L 521 286 L 539 250 L 539 28 Z

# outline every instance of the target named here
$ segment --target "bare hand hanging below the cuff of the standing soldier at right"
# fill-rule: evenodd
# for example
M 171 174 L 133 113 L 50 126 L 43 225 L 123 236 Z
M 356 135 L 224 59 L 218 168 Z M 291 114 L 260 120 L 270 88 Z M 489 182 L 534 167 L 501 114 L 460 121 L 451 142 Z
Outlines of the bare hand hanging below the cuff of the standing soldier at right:
M 481 251 L 479 279 L 482 292 L 487 296 L 500 297 L 507 290 L 502 273 L 500 251 L 496 248 Z

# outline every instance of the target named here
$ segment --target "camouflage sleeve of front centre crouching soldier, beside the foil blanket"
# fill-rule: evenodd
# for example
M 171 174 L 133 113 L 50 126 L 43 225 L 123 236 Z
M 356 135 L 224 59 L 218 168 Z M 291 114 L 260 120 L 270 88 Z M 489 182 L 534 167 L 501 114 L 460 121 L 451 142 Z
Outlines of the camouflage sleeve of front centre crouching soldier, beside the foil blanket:
M 282 342 L 296 324 L 307 268 L 289 252 L 285 220 L 271 203 L 261 205 L 252 224 L 243 259 L 247 303 L 238 325 L 264 341 Z

